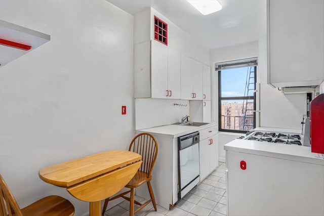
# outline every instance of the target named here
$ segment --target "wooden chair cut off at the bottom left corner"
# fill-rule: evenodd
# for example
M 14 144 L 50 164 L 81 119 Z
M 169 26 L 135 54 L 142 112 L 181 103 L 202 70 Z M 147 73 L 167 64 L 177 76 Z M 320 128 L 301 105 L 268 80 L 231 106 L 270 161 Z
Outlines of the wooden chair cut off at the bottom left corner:
M 74 206 L 63 197 L 52 195 L 20 209 L 6 182 L 0 175 L 0 215 L 1 216 L 70 216 Z

